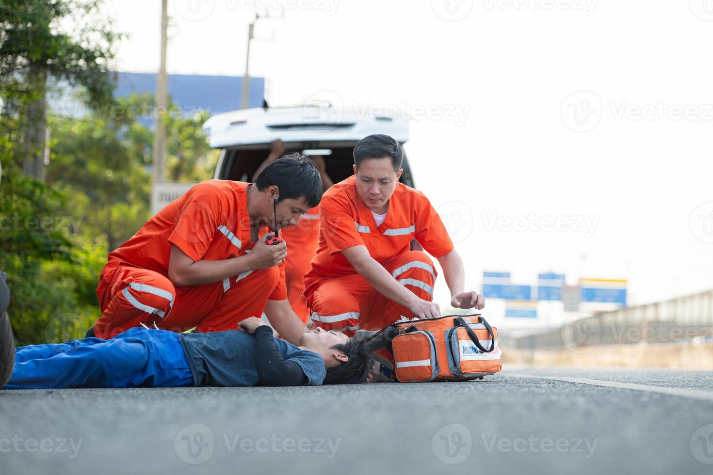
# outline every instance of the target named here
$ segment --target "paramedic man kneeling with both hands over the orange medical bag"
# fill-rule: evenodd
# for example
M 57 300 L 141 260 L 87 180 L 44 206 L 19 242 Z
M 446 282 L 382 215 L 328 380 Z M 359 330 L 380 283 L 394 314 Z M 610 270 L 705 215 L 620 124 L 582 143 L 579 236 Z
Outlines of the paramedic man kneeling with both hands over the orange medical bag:
M 408 318 L 436 318 L 436 269 L 411 239 L 438 259 L 451 306 L 478 308 L 485 297 L 465 291 L 463 260 L 429 199 L 399 183 L 404 151 L 388 135 L 354 148 L 354 175 L 327 190 L 319 204 L 319 249 L 304 276 L 312 320 L 354 335 Z

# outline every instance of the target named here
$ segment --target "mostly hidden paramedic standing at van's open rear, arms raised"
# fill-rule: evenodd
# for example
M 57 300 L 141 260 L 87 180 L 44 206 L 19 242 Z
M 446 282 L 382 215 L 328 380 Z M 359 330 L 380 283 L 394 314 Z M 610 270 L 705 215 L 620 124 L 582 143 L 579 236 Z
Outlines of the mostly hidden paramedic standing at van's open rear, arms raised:
M 270 142 L 270 155 L 262 165 L 257 168 L 253 181 L 262 172 L 264 167 L 282 157 L 285 149 L 282 140 L 273 140 Z M 322 177 L 322 187 L 329 189 L 334 182 L 327 174 L 327 164 L 324 162 L 324 157 L 313 155 L 310 158 L 314 161 L 314 165 L 319 170 Z M 284 278 L 287 284 L 287 300 L 292 306 L 294 313 L 297 313 L 299 319 L 305 324 L 309 321 L 309 308 L 307 308 L 307 300 L 302 295 L 304 293 L 304 274 L 312 268 L 310 261 L 317 254 L 317 244 L 319 242 L 319 206 L 310 208 L 307 213 L 299 216 L 297 226 L 284 229 L 280 234 L 287 244 L 287 253 L 289 259 L 284 263 Z

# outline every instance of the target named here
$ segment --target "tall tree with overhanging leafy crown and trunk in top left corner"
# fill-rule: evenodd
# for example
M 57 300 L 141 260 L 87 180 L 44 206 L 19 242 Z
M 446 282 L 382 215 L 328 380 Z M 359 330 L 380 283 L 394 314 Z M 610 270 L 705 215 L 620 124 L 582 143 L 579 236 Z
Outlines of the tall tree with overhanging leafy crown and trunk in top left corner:
M 46 93 L 58 82 L 81 85 L 93 103 L 111 101 L 108 62 L 118 40 L 102 0 L 4 0 L 0 4 L 0 90 L 16 111 L 26 174 L 43 180 Z

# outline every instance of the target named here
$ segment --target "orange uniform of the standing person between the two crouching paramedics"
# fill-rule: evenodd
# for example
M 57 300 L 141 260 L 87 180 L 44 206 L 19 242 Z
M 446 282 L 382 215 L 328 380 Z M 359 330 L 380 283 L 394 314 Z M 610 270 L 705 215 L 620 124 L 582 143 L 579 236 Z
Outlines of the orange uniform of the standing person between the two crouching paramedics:
M 309 320 L 309 308 L 304 293 L 304 274 L 312 268 L 310 261 L 317 254 L 319 241 L 319 206 L 309 209 L 299 218 L 297 226 L 281 229 L 280 236 L 287 244 L 284 276 L 287 282 L 287 298 L 294 313 L 305 324 Z

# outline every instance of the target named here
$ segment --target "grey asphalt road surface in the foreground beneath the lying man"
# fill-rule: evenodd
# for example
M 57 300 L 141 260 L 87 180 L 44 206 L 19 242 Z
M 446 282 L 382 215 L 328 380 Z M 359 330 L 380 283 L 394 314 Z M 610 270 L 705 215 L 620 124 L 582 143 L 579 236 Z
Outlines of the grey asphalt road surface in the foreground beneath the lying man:
M 0 391 L 0 474 L 281 471 L 711 474 L 713 372 L 506 367 L 460 383 Z

